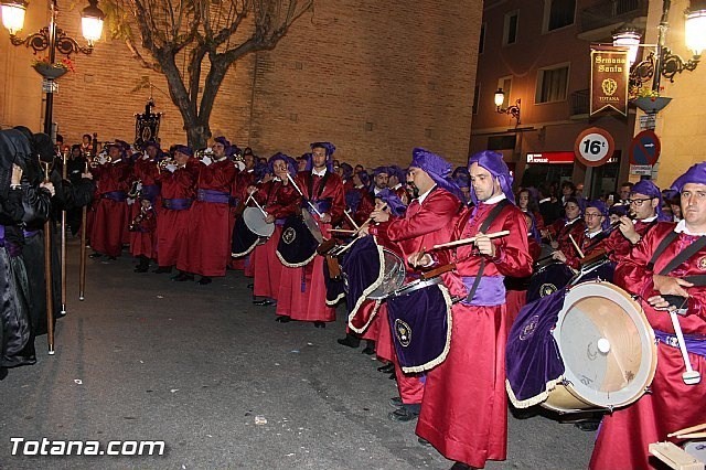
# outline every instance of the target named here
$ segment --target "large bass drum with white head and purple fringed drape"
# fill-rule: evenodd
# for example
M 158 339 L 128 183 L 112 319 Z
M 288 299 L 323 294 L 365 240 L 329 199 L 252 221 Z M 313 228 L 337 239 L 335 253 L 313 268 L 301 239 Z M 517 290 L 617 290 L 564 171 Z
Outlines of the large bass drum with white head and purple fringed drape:
M 507 392 L 521 408 L 613 409 L 644 394 L 656 361 L 640 305 L 612 284 L 586 281 L 520 312 L 507 342 Z

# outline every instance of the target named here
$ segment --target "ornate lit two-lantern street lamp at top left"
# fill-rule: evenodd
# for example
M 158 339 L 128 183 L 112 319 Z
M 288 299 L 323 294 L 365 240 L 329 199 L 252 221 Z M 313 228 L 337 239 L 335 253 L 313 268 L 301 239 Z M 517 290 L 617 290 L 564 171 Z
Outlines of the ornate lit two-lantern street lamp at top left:
M 105 14 L 98 8 L 98 0 L 88 0 L 88 7 L 82 12 L 82 32 L 88 46 L 81 46 L 76 40 L 69 38 L 65 31 L 56 28 L 56 17 L 58 14 L 58 8 L 56 0 L 51 2 L 51 22 L 47 28 L 42 28 L 40 31 L 30 34 L 25 39 L 20 39 L 17 33 L 24 26 L 24 13 L 26 11 L 28 2 L 24 0 L 7 0 L 0 2 L 0 11 L 2 12 L 2 24 L 10 32 L 10 42 L 12 45 L 25 45 L 32 47 L 34 54 L 40 51 L 49 50 L 49 63 L 54 64 L 56 61 L 56 52 L 71 56 L 74 52 L 81 52 L 83 54 L 90 54 L 93 52 L 94 42 L 100 39 L 103 33 L 103 20 Z M 40 71 L 38 71 L 40 72 Z M 44 113 L 44 132 L 52 135 L 52 111 L 54 106 L 54 93 L 56 92 L 56 84 L 54 79 L 57 78 L 57 74 L 47 72 L 40 72 L 44 77 L 43 88 L 46 92 L 46 108 Z

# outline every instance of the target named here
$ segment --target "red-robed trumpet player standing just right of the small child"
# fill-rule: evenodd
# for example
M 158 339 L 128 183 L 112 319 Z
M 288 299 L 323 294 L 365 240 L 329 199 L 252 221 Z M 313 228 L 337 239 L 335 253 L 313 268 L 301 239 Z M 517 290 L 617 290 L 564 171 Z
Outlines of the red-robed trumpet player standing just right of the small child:
M 154 273 L 171 273 L 184 239 L 189 209 L 196 196 L 199 162 L 188 146 L 176 146 L 174 161 L 161 170 L 161 204 L 157 209 L 157 264 Z

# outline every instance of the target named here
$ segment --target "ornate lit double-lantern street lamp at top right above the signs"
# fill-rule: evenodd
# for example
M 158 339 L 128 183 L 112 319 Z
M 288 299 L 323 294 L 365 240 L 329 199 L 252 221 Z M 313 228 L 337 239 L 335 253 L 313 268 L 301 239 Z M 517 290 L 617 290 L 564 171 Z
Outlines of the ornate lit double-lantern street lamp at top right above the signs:
M 693 57 L 684 61 L 665 45 L 666 31 L 668 29 L 670 0 L 662 2 L 662 17 L 657 26 L 657 43 L 654 51 L 651 51 L 645 60 L 634 64 L 641 35 L 635 26 L 625 24 L 623 28 L 613 32 L 613 45 L 630 49 L 631 70 L 630 85 L 641 87 L 642 84 L 652 79 L 652 90 L 660 92 L 661 77 L 668 78 L 674 82 L 674 76 L 684 71 L 694 71 L 700 60 L 700 54 L 706 49 L 706 6 L 699 1 L 700 8 L 689 8 L 685 11 L 684 33 L 686 46 L 692 51 Z M 657 71 L 657 73 L 655 73 Z

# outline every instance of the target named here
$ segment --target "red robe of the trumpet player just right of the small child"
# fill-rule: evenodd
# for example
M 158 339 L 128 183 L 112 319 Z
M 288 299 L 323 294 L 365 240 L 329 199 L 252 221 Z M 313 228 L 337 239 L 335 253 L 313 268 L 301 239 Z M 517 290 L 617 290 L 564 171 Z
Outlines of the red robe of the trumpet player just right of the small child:
M 196 195 L 197 164 L 195 159 L 189 159 L 185 168 L 179 168 L 173 173 L 162 171 L 158 177 L 162 186 L 161 199 L 193 200 Z M 174 266 L 186 231 L 189 210 L 167 209 L 160 203 L 157 211 L 157 263 L 159 266 Z

